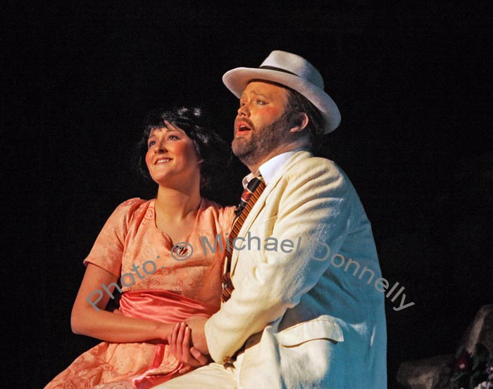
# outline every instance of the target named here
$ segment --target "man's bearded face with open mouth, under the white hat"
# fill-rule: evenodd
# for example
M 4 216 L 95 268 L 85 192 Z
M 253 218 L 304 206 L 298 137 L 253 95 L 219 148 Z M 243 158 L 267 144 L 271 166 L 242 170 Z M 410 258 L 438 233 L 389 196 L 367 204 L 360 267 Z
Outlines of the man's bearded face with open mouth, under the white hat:
M 246 86 L 239 99 L 232 151 L 248 167 L 265 162 L 286 143 L 287 102 L 288 91 L 283 87 L 260 81 Z

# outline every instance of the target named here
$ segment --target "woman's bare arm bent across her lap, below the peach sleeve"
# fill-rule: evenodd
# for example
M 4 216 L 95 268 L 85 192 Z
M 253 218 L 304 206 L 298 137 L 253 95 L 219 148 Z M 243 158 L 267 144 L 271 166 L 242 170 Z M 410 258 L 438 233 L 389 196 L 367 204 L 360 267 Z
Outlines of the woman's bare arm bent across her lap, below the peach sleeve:
M 86 298 L 94 291 L 101 289 L 102 283 L 109 285 L 116 281 L 118 281 L 117 277 L 110 272 L 95 264 L 87 264 L 70 317 L 72 331 L 109 342 L 166 340 L 170 331 L 173 330 L 173 324 L 107 312 L 104 310 L 110 298 L 107 293 L 104 293 L 101 300 L 96 302 L 99 311 L 87 302 Z

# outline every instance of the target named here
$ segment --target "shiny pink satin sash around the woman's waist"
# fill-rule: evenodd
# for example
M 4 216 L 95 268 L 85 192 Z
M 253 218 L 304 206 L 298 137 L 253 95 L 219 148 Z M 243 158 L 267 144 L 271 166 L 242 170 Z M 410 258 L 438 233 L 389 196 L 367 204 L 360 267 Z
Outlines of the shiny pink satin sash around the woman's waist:
M 190 316 L 211 317 L 219 307 L 167 291 L 128 291 L 120 299 L 125 316 L 177 323 Z

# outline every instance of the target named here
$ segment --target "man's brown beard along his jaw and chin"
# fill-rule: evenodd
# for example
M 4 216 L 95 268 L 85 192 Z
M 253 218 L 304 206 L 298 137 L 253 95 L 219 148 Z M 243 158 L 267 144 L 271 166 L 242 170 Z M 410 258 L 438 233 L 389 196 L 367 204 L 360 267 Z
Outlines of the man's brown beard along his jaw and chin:
M 235 137 L 232 141 L 232 151 L 246 166 L 257 165 L 273 149 L 286 142 L 286 129 L 289 126 L 290 113 L 285 110 L 270 125 L 264 125 L 251 130 L 249 139 L 243 136 Z

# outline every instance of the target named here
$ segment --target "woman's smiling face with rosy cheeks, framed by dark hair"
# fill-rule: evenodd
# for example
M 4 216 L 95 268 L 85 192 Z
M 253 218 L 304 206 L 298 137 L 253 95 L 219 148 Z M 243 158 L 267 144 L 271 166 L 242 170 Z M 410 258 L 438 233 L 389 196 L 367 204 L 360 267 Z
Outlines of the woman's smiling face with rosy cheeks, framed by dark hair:
M 157 184 L 175 186 L 198 179 L 200 164 L 194 141 L 182 129 L 166 122 L 154 129 L 147 140 L 146 165 Z

